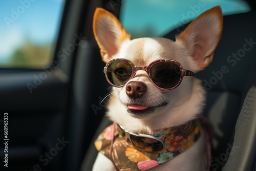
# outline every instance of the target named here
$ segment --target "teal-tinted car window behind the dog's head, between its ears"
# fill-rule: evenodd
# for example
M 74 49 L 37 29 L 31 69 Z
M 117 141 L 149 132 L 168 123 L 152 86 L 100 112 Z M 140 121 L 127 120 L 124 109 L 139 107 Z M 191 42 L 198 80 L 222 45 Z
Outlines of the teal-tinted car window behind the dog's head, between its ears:
M 250 11 L 248 4 L 239 0 L 122 0 L 120 3 L 120 22 L 132 38 L 163 36 L 214 6 L 220 6 L 223 15 Z

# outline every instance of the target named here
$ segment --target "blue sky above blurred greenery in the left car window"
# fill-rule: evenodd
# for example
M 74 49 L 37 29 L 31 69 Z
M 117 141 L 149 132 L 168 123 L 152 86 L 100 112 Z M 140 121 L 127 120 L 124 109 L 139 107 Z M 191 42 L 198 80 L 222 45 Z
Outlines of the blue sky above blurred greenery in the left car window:
M 53 41 L 63 3 L 63 0 L 0 1 L 0 61 L 28 40 L 36 44 Z

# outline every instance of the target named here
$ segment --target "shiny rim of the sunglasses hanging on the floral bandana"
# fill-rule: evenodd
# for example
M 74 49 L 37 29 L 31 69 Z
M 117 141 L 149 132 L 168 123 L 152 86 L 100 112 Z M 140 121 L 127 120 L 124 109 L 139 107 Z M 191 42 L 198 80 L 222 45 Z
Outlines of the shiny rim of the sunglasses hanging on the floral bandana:
M 117 123 L 116 123 L 116 124 L 117 124 Z M 127 139 L 128 139 L 128 140 L 131 142 L 131 144 L 132 144 L 134 147 L 138 148 L 138 149 L 141 149 L 141 150 L 143 150 L 143 151 L 145 151 L 145 152 L 161 152 L 161 151 L 164 149 L 164 147 L 165 147 L 164 142 L 163 142 L 160 138 L 158 138 L 158 137 L 155 137 L 155 136 L 152 136 L 152 135 L 147 135 L 147 134 L 139 134 L 139 133 L 135 133 L 135 132 L 129 132 L 129 131 L 124 130 L 124 127 L 123 127 L 123 126 L 121 126 L 121 125 L 119 125 L 119 124 L 117 124 L 117 126 L 118 126 L 118 128 L 121 129 L 122 132 L 124 133 L 124 136 L 125 136 L 125 137 L 123 137 L 123 138 L 125 138 L 125 141 L 127 141 Z M 133 135 L 133 136 L 135 136 L 135 137 L 151 138 L 151 139 L 153 139 L 153 140 L 157 140 L 157 141 L 161 142 L 161 144 L 163 145 L 163 148 L 162 148 L 161 150 L 159 150 L 159 151 L 146 151 L 146 149 L 144 149 L 144 148 L 139 148 L 139 147 L 137 147 L 137 146 L 133 143 L 133 141 L 132 141 L 132 139 L 131 139 L 131 135 Z

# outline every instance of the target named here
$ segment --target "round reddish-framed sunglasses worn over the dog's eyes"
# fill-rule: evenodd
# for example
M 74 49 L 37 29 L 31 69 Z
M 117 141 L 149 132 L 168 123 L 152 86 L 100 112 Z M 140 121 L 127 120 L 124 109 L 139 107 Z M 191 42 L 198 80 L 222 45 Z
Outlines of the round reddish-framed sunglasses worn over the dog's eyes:
M 151 82 L 163 91 L 177 88 L 184 76 L 195 76 L 194 72 L 184 70 L 178 61 L 171 59 L 155 60 L 148 66 L 135 66 L 130 60 L 116 58 L 111 59 L 104 67 L 106 80 L 113 87 L 123 87 L 138 70 L 145 71 Z

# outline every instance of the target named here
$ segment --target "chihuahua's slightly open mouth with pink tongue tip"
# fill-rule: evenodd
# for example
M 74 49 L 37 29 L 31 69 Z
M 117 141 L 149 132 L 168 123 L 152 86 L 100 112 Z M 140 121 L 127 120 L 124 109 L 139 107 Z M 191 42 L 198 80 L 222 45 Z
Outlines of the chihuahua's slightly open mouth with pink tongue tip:
M 139 104 L 128 104 L 127 105 L 127 112 L 132 114 L 134 117 L 143 117 L 148 114 L 151 114 L 155 111 L 155 109 L 162 108 L 163 106 L 166 106 L 168 103 L 162 102 L 159 105 L 156 106 L 145 106 L 145 105 L 139 105 Z

